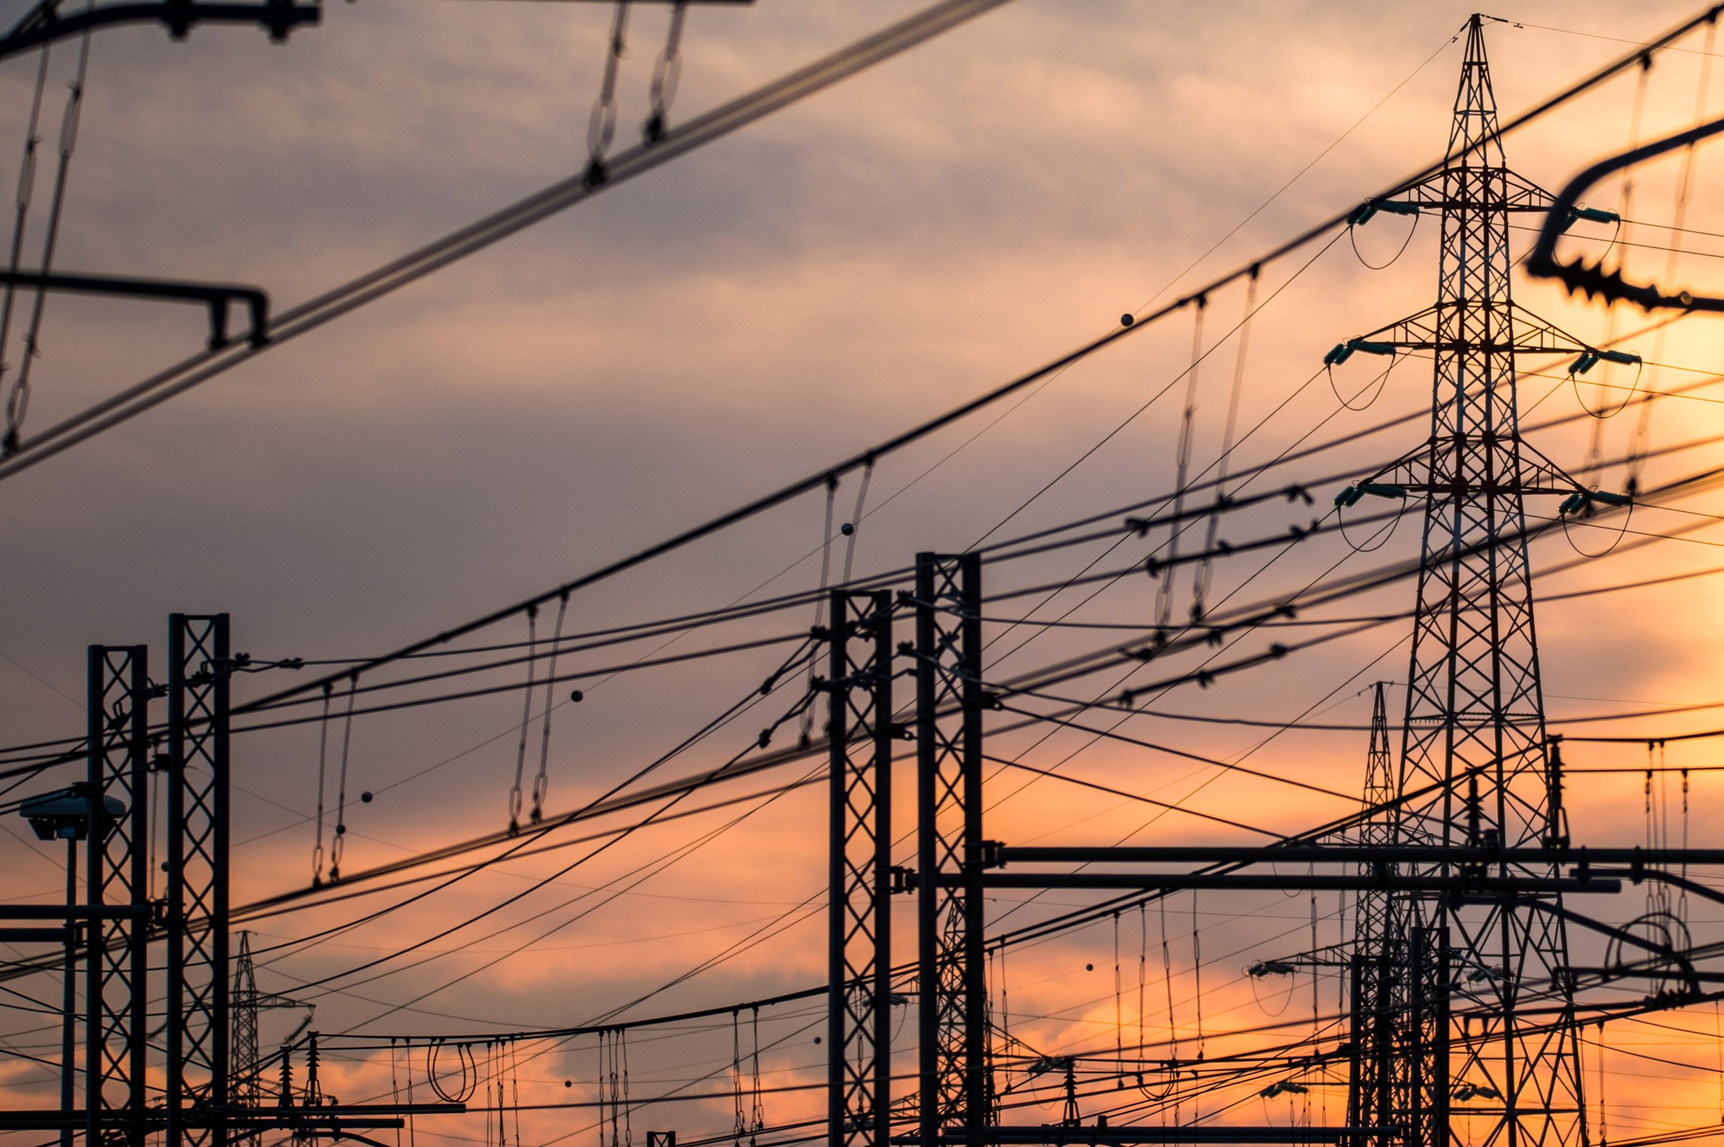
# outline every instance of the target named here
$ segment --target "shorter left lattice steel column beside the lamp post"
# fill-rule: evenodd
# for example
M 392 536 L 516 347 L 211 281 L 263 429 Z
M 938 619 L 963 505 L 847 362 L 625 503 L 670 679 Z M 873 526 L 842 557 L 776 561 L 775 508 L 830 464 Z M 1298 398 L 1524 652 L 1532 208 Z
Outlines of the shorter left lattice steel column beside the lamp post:
M 91 827 L 86 901 L 147 909 L 150 870 L 148 646 L 90 646 L 90 806 L 116 797 L 126 813 Z M 100 822 L 102 818 L 97 816 Z M 84 946 L 84 1116 L 91 1147 L 143 1145 L 148 1035 L 148 916 L 93 914 Z

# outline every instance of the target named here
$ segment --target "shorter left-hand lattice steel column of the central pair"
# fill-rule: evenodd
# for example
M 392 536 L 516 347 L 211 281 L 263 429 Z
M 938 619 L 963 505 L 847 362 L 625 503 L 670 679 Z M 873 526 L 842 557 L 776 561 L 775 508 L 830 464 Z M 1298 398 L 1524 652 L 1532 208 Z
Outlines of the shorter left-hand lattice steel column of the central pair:
M 833 591 L 828 1142 L 891 1137 L 891 592 Z

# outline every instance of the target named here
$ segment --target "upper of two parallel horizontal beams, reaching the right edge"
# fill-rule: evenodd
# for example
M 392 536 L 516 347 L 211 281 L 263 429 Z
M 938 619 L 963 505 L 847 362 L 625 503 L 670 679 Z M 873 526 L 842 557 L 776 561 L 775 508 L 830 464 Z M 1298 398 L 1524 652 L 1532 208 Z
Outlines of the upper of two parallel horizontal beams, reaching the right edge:
M 1227 846 L 1010 846 L 1000 863 L 1024 865 L 1724 865 L 1724 849 L 1483 849 L 1433 846 L 1295 844 L 1288 847 Z

